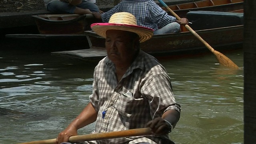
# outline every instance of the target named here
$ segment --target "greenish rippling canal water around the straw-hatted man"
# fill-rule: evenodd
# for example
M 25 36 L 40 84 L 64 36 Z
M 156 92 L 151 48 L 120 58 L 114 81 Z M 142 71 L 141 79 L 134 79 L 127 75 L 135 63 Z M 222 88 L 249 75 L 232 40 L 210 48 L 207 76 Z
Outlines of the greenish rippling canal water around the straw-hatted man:
M 224 53 L 240 68 L 220 66 L 213 54 L 160 60 L 172 79 L 181 118 L 176 144 L 243 143 L 243 51 Z M 88 104 L 96 62 L 0 52 L 0 144 L 56 138 Z M 94 124 L 78 130 L 90 134 Z

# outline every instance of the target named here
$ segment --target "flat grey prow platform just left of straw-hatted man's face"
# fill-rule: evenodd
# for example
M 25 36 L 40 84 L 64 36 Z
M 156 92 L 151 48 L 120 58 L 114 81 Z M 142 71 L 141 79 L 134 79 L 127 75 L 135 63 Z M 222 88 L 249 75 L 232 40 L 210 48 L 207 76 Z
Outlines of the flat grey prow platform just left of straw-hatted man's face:
M 107 56 L 105 48 L 92 46 L 89 49 L 52 52 L 52 55 L 78 58 L 81 60 L 100 60 Z

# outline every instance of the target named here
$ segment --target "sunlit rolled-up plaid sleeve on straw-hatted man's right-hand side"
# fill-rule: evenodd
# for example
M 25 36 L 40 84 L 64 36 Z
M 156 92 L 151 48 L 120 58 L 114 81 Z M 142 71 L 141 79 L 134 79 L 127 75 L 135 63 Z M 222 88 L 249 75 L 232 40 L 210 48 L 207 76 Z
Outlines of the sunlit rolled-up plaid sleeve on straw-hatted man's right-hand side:
M 180 112 L 181 106 L 176 103 L 170 78 L 167 74 L 152 76 L 141 88 L 142 96 L 146 97 L 150 105 L 152 119 L 162 116 L 167 110 Z

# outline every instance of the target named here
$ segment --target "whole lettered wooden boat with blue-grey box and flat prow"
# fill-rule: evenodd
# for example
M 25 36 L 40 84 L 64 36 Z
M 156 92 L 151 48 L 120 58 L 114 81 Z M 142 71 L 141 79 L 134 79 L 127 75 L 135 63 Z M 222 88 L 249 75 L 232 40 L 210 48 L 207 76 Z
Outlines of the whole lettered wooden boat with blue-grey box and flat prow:
M 242 48 L 243 13 L 191 11 L 193 18 L 190 27 L 196 30 L 215 50 L 234 50 Z M 100 59 L 106 56 L 105 39 L 95 32 L 86 31 L 89 49 L 53 52 L 54 55 L 72 56 L 83 60 Z M 210 52 L 191 32 L 182 28 L 182 32 L 154 35 L 140 44 L 140 48 L 159 58 Z

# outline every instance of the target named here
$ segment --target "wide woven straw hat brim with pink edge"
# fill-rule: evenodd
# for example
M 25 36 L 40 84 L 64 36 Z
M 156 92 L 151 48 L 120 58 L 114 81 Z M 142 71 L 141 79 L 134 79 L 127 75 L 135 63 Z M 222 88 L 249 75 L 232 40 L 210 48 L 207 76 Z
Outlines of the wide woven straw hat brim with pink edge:
M 129 24 L 116 23 L 95 23 L 91 24 L 91 28 L 96 34 L 106 38 L 107 30 L 124 30 L 134 32 L 140 36 L 140 42 L 145 42 L 153 36 L 154 30 L 143 26 L 134 26 Z

